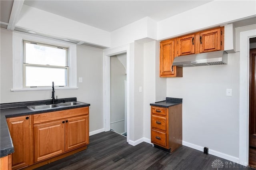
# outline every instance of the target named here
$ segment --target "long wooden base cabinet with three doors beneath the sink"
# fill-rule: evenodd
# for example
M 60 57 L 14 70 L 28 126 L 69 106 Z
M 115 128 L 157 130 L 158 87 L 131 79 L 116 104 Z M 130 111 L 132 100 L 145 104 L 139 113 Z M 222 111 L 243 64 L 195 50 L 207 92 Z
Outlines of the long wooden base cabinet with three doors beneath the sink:
M 89 107 L 6 120 L 14 145 L 13 170 L 89 144 Z

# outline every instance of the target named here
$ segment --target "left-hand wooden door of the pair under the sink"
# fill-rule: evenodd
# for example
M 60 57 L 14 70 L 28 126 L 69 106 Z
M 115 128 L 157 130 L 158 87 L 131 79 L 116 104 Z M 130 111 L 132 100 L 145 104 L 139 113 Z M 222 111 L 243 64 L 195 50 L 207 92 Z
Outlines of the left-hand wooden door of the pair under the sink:
M 34 125 L 35 162 L 64 152 L 65 121 Z

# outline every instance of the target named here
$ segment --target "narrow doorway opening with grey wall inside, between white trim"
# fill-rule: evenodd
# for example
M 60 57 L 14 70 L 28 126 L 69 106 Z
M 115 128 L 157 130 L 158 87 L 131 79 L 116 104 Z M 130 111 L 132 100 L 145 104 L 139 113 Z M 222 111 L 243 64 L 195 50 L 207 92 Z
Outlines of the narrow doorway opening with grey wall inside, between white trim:
M 126 53 L 110 56 L 110 130 L 127 136 Z

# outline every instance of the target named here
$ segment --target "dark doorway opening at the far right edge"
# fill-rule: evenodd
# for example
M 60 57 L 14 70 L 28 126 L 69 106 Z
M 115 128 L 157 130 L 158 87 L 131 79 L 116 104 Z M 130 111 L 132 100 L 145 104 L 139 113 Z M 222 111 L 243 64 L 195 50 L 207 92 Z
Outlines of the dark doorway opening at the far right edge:
M 249 165 L 256 168 L 256 38 L 250 38 Z

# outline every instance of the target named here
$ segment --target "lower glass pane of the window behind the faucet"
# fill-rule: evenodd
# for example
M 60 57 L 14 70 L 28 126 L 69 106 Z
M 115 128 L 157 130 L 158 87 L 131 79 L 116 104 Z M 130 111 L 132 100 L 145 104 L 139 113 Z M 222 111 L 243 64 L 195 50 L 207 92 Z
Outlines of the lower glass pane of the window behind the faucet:
M 56 86 L 67 85 L 67 69 L 35 67 L 26 65 L 26 87 L 31 86 L 52 86 L 52 81 Z

